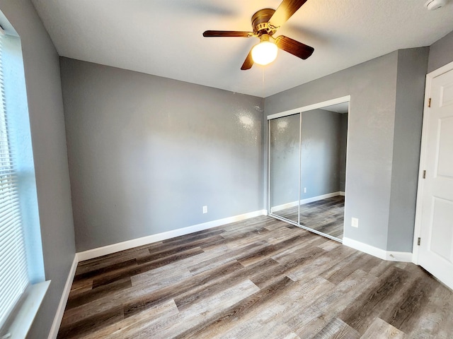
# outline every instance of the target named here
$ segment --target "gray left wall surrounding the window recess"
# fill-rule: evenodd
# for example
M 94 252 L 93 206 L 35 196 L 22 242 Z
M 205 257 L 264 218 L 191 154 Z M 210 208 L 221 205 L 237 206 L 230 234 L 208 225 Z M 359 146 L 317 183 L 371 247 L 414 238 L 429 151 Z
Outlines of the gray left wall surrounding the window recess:
M 47 338 L 75 253 L 59 57 L 30 1 L 0 0 L 0 9 L 22 41 L 45 278 L 52 280 L 28 338 Z

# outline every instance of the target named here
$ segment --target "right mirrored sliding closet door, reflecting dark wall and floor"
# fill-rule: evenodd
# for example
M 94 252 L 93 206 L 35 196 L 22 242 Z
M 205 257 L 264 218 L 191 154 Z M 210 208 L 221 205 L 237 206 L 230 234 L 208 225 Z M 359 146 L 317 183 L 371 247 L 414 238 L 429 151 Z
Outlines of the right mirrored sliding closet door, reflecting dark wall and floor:
M 302 112 L 299 223 L 343 239 L 348 103 Z M 341 109 L 341 112 L 336 112 Z

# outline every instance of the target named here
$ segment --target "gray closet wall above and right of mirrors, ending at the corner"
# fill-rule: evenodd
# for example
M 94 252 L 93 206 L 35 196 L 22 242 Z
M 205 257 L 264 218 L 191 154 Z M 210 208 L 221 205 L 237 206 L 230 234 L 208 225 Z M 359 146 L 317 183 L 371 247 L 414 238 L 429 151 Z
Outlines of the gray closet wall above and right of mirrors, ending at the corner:
M 345 237 L 380 249 L 387 246 L 397 62 L 393 52 L 265 98 L 269 115 L 351 95 Z

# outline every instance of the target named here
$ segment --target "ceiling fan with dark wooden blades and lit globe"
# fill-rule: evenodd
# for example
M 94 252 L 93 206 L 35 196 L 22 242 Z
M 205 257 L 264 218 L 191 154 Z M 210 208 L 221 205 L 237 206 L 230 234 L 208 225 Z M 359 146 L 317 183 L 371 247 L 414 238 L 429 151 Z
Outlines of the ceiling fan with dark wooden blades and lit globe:
M 256 44 L 243 62 L 241 69 L 251 69 L 254 63 L 267 65 L 277 57 L 277 50 L 284 51 L 301 59 L 307 59 L 313 54 L 314 48 L 302 44 L 290 37 L 280 35 L 273 37 L 277 29 L 287 22 L 307 0 L 283 0 L 277 10 L 263 8 L 252 16 L 252 32 L 234 30 L 207 30 L 203 37 L 259 37 L 260 43 Z M 274 40 L 271 42 L 270 40 Z

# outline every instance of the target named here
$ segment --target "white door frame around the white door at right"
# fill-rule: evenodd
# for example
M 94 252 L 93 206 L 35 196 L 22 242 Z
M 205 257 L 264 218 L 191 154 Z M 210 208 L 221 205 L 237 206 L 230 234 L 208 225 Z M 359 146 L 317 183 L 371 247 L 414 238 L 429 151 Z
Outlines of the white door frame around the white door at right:
M 412 247 L 412 262 L 418 265 L 418 238 L 422 232 L 422 201 L 425 181 L 423 180 L 423 171 L 426 168 L 426 157 L 428 148 L 428 115 L 430 107 L 428 103 L 430 100 L 432 79 L 441 76 L 443 73 L 453 70 L 453 61 L 445 66 L 440 67 L 426 75 L 425 83 L 425 100 L 423 104 L 423 125 L 422 125 L 422 141 L 420 145 L 420 165 L 418 167 L 418 186 L 417 186 L 417 203 L 415 205 L 415 225 L 413 232 L 413 247 Z

